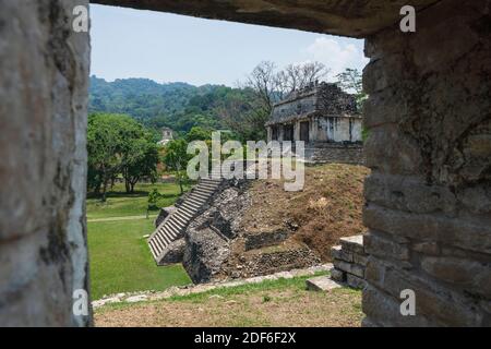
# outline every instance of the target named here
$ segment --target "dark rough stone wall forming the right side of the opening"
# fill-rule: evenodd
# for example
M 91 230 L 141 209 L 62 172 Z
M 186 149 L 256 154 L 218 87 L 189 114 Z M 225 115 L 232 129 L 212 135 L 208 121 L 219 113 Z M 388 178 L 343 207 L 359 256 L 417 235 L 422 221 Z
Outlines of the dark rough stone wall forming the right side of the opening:
M 489 11 L 441 1 L 367 39 L 366 325 L 491 325 Z

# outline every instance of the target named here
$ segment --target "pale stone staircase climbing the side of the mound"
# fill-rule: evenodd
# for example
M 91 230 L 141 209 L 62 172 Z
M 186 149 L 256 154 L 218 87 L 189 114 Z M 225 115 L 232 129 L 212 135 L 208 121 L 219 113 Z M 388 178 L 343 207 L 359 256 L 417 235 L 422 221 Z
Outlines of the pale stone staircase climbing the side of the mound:
M 189 224 L 202 213 L 203 206 L 220 183 L 220 179 L 201 179 L 179 207 L 152 233 L 147 242 L 157 265 L 166 264 L 166 256 L 172 252 L 172 244 L 184 237 Z

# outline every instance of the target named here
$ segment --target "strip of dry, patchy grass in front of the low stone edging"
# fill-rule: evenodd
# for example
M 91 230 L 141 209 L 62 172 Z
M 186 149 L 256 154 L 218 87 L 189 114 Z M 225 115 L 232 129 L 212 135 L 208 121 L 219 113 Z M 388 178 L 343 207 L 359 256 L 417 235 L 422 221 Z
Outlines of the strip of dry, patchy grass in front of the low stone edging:
M 266 280 L 95 311 L 96 326 L 360 326 L 361 292 L 306 290 L 306 279 Z

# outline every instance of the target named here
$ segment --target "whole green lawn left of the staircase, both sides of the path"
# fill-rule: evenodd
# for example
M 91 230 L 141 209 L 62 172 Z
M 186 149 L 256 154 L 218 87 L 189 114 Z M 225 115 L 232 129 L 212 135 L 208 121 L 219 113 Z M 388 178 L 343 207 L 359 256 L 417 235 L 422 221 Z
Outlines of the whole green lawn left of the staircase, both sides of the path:
M 135 194 L 127 195 L 115 185 L 106 203 L 87 200 L 88 251 L 92 298 L 118 292 L 163 290 L 191 284 L 180 264 L 157 267 L 143 236 L 154 231 L 154 218 L 91 221 L 91 219 L 142 216 L 146 214 L 147 193 L 157 188 L 164 194 L 159 206 L 171 205 L 179 197 L 175 183 L 141 184 Z M 157 212 L 153 213 L 155 216 Z

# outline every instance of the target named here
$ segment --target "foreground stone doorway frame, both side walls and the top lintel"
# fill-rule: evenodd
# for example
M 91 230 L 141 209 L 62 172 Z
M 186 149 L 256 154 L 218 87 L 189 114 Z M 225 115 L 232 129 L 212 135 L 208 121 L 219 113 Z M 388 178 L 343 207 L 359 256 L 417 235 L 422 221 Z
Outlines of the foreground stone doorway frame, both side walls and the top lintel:
M 491 325 L 491 1 L 96 0 L 366 39 L 366 326 Z M 87 0 L 0 2 L 0 325 L 88 326 Z M 399 312 L 416 294 L 416 315 Z

